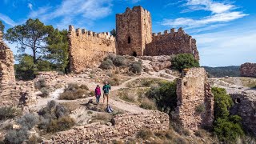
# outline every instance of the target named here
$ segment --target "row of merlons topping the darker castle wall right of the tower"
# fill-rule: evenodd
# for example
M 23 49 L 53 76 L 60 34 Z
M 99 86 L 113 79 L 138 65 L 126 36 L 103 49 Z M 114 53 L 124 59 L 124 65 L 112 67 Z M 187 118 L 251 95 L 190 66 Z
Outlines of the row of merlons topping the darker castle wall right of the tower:
M 173 37 L 181 37 L 183 35 L 186 35 L 185 31 L 182 29 L 182 27 L 180 27 L 177 31 L 175 31 L 174 28 L 169 30 L 164 30 L 163 34 L 162 32 L 158 32 L 158 33 L 153 33 L 152 36 L 154 37 L 161 37 L 161 36 L 166 36 L 166 35 L 171 35 Z

